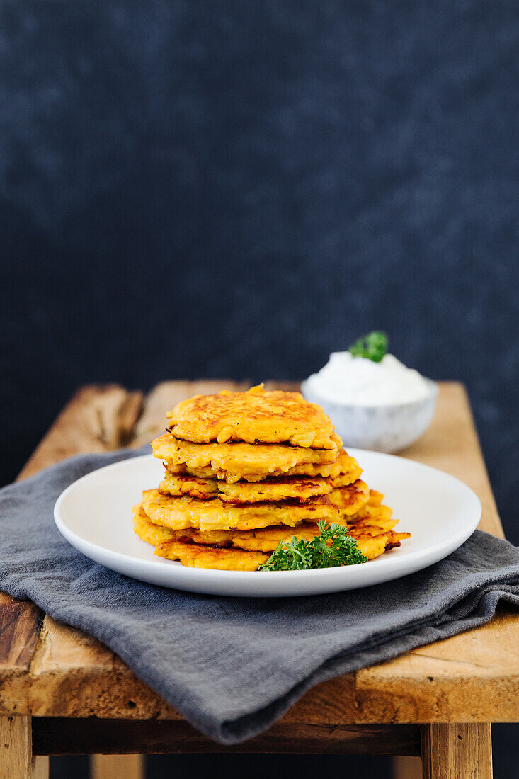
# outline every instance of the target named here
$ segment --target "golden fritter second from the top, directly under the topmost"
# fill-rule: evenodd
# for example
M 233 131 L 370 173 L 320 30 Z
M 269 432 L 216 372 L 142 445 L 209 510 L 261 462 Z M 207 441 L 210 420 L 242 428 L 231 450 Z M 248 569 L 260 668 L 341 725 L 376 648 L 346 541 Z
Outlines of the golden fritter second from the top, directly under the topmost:
M 164 460 L 168 470 L 185 465 L 192 469 L 211 467 L 218 478 L 228 482 L 257 481 L 291 472 L 295 467 L 323 464 L 333 465 L 337 460 L 341 439 L 334 435 L 335 449 L 304 449 L 302 446 L 284 446 L 269 443 L 191 443 L 166 433 L 151 442 L 154 456 Z M 330 468 L 331 471 L 331 468 Z

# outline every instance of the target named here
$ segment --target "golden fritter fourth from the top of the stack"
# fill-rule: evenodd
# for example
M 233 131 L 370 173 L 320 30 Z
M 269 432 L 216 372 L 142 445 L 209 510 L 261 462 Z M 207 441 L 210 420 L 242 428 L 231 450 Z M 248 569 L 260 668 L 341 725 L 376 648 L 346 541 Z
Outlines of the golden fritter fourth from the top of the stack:
M 152 522 L 173 530 L 186 527 L 198 527 L 199 530 L 250 530 L 277 524 L 294 526 L 305 519 L 314 522 L 333 520 L 337 516 L 337 507 L 327 495 L 303 504 L 251 503 L 238 507 L 224 504 L 219 498 L 170 498 L 152 489 L 143 492 L 143 509 Z

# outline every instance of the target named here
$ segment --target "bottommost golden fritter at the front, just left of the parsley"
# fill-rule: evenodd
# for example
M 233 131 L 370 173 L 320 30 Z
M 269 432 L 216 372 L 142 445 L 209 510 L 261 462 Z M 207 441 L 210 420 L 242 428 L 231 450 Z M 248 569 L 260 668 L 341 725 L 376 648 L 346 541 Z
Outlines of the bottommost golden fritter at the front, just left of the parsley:
M 242 549 L 214 549 L 180 541 L 164 541 L 155 549 L 157 557 L 180 560 L 190 568 L 213 568 L 221 571 L 256 571 L 269 555 L 243 552 Z

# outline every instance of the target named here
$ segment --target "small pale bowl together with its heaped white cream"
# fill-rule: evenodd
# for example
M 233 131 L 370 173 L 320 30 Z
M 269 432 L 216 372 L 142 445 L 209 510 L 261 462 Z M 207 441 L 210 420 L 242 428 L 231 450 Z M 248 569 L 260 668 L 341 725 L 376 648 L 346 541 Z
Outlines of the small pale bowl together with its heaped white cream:
M 344 446 L 397 452 L 433 421 L 438 386 L 393 354 L 377 357 L 334 352 L 302 383 L 302 393 L 323 407 Z

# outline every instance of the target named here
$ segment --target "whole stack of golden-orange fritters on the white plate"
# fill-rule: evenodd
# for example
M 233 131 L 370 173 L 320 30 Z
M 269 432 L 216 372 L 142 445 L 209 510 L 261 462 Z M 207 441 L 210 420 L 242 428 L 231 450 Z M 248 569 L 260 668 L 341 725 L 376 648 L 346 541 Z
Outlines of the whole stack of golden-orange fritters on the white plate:
M 134 507 L 135 532 L 185 566 L 253 571 L 317 522 L 349 527 L 373 559 L 400 546 L 397 520 L 370 492 L 323 409 L 300 393 L 228 391 L 183 400 L 152 441 L 166 473 Z

